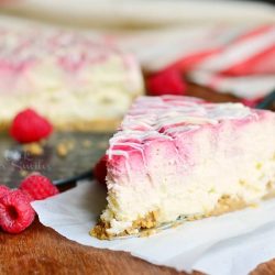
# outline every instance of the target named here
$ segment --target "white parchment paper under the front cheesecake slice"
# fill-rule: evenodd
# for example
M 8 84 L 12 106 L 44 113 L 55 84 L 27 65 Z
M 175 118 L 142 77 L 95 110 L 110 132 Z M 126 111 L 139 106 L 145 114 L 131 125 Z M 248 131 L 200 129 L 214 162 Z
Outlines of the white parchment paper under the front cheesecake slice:
M 157 265 L 207 274 L 243 275 L 275 256 L 275 200 L 220 217 L 186 222 L 147 238 L 100 241 L 88 232 L 106 205 L 106 190 L 80 182 L 58 196 L 32 202 L 40 221 L 80 244 L 127 251 Z

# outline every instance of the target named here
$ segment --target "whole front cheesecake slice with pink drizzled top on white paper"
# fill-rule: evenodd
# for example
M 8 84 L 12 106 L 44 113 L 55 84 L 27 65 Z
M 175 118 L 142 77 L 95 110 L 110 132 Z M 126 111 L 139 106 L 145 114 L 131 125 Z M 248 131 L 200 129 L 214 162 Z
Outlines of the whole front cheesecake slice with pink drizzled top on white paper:
M 111 239 L 256 204 L 275 189 L 275 113 L 241 103 L 140 97 L 107 151 Z

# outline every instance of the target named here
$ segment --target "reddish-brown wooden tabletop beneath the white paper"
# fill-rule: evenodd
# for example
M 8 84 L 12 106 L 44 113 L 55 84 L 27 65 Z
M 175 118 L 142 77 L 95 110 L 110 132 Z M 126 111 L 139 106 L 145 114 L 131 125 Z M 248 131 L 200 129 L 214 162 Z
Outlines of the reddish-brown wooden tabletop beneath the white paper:
M 205 89 L 189 85 L 189 95 L 218 98 Z M 23 233 L 6 234 L 0 231 L 0 274 L 179 274 L 124 252 L 92 249 L 68 241 L 54 230 L 35 222 Z M 182 273 L 184 274 L 184 273 Z M 198 274 L 198 273 L 194 273 Z M 275 274 L 275 260 L 260 265 L 253 274 Z

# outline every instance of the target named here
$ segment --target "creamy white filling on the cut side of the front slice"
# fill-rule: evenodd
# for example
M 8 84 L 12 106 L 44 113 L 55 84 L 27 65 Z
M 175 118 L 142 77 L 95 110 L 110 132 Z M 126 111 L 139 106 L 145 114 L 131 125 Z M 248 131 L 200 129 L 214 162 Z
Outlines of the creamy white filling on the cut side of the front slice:
M 258 201 L 275 185 L 274 141 L 274 120 L 266 119 L 239 129 L 224 124 L 219 132 L 200 129 L 193 139 L 191 164 L 167 155 L 165 143 L 152 147 L 146 173 L 140 174 L 139 167 L 120 177 L 109 173 L 108 207 L 101 216 L 110 223 L 107 233 L 120 234 L 151 211 L 158 211 L 158 223 L 206 215 L 223 196 L 248 205 Z M 184 136 L 182 142 L 184 146 Z

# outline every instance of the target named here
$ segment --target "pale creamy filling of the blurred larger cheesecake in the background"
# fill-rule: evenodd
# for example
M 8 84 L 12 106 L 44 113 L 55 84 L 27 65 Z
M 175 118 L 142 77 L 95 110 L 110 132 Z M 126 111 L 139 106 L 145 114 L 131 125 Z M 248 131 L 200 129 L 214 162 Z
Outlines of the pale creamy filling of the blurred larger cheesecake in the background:
M 121 120 L 133 99 L 143 92 L 139 68 L 127 72 L 113 56 L 77 75 L 65 75 L 55 64 L 37 64 L 21 76 L 16 92 L 1 95 L 0 121 L 11 121 L 25 108 L 33 108 L 54 124 L 92 120 Z M 132 74 L 132 75 L 131 75 Z

